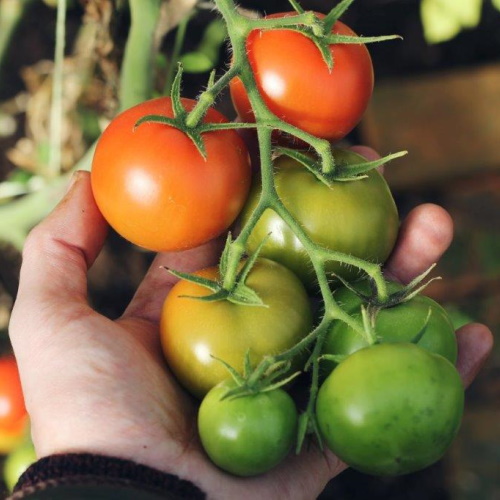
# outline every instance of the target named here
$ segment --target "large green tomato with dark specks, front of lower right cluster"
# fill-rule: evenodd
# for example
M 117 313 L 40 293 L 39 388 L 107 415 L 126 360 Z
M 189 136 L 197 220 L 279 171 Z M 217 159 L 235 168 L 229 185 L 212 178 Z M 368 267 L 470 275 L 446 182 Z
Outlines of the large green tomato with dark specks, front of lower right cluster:
M 458 432 L 464 390 L 455 367 L 414 344 L 378 344 L 339 364 L 316 401 L 328 447 L 361 472 L 425 468 Z

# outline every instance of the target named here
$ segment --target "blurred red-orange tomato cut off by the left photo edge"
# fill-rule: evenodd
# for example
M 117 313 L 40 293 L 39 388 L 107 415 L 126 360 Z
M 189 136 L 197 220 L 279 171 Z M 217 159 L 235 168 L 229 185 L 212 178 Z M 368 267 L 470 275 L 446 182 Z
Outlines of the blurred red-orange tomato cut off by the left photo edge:
M 12 356 L 0 358 L 0 453 L 8 453 L 24 438 L 28 414 Z

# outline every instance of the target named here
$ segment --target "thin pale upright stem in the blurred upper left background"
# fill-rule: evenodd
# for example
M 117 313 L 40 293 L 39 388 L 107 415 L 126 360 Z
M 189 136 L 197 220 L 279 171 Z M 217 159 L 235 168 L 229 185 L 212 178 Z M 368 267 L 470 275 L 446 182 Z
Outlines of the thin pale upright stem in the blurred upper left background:
M 64 48 L 66 45 L 66 0 L 57 3 L 56 48 L 52 78 L 52 103 L 50 108 L 50 148 L 47 177 L 57 177 L 61 172 L 63 129 Z

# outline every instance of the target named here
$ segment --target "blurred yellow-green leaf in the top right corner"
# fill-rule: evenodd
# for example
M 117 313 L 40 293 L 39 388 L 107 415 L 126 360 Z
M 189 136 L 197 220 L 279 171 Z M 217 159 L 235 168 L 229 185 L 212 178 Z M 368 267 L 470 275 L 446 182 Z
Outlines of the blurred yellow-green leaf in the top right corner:
M 497 4 L 500 4 L 496 0 Z M 482 0 L 422 0 L 420 17 L 428 43 L 454 38 L 465 28 L 475 28 L 481 19 Z

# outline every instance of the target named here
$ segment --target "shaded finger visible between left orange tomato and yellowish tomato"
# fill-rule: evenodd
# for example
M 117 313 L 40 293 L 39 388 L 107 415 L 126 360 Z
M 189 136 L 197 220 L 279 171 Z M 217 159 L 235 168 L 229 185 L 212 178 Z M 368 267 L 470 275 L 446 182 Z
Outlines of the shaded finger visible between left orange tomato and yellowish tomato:
M 163 302 L 178 281 L 162 267 L 190 273 L 215 265 L 219 261 L 223 246 L 223 238 L 218 238 L 190 250 L 158 254 L 122 318 L 136 317 L 158 321 Z

